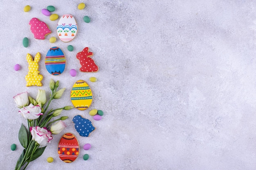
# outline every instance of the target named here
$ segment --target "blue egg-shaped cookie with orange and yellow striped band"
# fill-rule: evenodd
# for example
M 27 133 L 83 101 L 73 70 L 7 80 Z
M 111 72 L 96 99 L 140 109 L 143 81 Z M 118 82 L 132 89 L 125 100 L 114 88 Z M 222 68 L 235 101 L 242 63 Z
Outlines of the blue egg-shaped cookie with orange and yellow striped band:
M 52 75 L 59 75 L 65 70 L 66 59 L 62 50 L 58 47 L 52 47 L 46 54 L 45 67 Z

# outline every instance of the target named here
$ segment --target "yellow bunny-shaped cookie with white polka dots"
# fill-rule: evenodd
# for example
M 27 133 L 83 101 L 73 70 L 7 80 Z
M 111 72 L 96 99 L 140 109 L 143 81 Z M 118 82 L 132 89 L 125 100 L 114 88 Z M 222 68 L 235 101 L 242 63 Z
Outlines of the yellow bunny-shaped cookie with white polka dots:
M 40 53 L 38 52 L 36 54 L 35 59 L 33 60 L 33 57 L 30 54 L 27 54 L 27 62 L 29 63 L 29 72 L 27 73 L 27 75 L 25 76 L 25 80 L 27 81 L 27 85 L 26 86 L 32 86 L 32 85 L 36 85 L 36 86 L 42 86 L 42 79 L 43 76 L 40 75 L 38 68 L 38 62 L 40 61 Z

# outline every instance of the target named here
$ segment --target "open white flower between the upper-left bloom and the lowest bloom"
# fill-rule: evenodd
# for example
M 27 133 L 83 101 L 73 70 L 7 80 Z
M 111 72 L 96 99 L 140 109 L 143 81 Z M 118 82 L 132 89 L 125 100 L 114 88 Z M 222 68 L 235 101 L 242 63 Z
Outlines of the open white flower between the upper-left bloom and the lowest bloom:
M 39 105 L 34 106 L 30 103 L 29 106 L 22 107 L 19 110 L 19 114 L 21 114 L 25 119 L 34 120 L 39 118 L 40 115 L 43 115 L 41 111 L 42 110 Z

